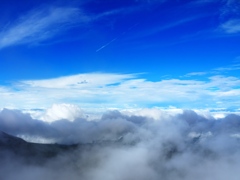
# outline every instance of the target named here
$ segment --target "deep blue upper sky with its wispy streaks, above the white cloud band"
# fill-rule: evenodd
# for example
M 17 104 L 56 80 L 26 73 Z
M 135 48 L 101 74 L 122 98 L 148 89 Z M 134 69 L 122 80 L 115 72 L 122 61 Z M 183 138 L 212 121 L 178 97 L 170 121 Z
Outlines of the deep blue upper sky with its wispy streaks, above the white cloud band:
M 238 0 L 3 0 L 0 12 L 3 87 L 92 72 L 240 76 Z

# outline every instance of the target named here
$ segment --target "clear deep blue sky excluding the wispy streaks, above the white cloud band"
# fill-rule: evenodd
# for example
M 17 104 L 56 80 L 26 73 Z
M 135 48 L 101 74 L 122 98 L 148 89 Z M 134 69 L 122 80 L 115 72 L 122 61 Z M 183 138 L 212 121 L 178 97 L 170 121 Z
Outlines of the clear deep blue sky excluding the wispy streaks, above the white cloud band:
M 119 13 L 77 24 L 43 41 L 2 48 L 1 80 L 95 71 L 181 75 L 224 66 L 239 56 L 239 33 L 227 34 L 219 28 L 229 18 L 239 18 L 239 13 L 221 15 L 221 9 L 228 8 L 222 1 L 12 0 L 1 5 L 0 25 L 7 29 L 30 11 L 51 6 L 81 7 L 91 18 Z

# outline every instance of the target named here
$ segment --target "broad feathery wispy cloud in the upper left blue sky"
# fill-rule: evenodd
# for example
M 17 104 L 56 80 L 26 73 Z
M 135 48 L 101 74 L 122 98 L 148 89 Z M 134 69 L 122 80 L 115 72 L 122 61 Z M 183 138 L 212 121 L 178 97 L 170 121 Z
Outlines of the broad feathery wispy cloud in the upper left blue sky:
M 38 43 L 51 38 L 79 22 L 87 22 L 78 8 L 41 8 L 32 10 L 0 32 L 0 48 Z

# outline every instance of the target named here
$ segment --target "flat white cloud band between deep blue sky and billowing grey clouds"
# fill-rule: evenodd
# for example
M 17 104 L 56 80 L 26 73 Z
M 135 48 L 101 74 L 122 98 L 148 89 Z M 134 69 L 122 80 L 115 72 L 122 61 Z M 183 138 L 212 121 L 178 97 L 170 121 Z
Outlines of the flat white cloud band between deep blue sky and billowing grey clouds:
M 144 76 L 144 75 L 141 75 Z M 44 80 L 25 80 L 2 87 L 0 107 L 46 109 L 52 104 L 76 104 L 83 109 L 232 108 L 240 100 L 240 79 L 210 76 L 205 80 L 160 79 L 137 74 L 90 73 Z M 16 90 L 17 89 L 17 90 Z

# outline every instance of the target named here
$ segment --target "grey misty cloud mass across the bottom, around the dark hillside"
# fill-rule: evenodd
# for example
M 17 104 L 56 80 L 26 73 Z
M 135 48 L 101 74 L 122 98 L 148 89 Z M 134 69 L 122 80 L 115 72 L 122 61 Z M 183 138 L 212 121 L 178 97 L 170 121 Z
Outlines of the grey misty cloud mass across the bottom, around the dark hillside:
M 3 132 L 80 145 L 43 163 L 1 151 L 0 179 L 239 179 L 240 116 L 215 119 L 192 110 L 161 113 L 154 119 L 108 111 L 91 121 L 81 117 L 49 123 L 3 109 Z

